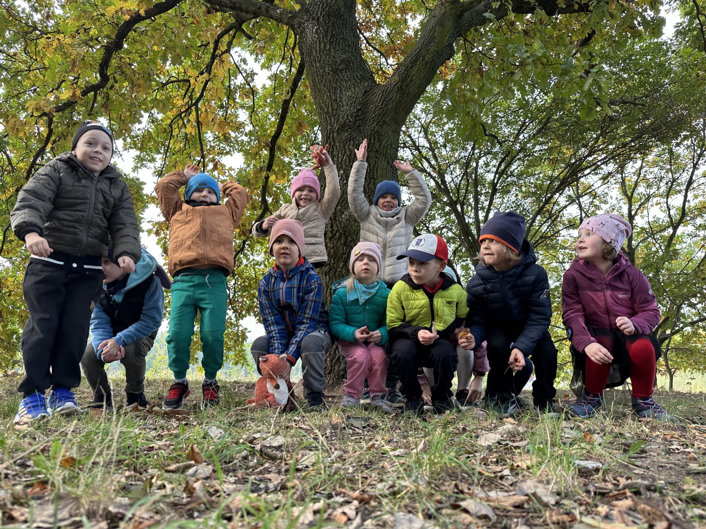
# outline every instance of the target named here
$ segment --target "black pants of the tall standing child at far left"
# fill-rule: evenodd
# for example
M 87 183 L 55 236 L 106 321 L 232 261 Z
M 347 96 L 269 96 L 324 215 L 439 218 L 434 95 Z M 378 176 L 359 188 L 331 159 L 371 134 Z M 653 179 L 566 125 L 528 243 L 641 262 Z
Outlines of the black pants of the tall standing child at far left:
M 91 303 L 98 300 L 104 277 L 100 269 L 71 262 L 27 265 L 22 288 L 30 317 L 22 332 L 25 378 L 17 389 L 23 396 L 80 384 Z

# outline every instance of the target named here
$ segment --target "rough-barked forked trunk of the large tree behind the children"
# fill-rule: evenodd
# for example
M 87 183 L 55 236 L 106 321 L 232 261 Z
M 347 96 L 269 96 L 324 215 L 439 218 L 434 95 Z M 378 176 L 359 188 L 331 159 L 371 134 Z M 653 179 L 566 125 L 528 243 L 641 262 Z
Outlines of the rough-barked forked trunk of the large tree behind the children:
M 340 174 L 342 197 L 326 231 L 328 265 L 321 269 L 325 288 L 348 275 L 348 256 L 359 238 L 359 224 L 349 211 L 347 181 L 355 161 L 354 148 L 368 138 L 368 174 L 365 192 L 372 199 L 382 180 L 397 180 L 397 159 L 402 126 L 419 97 L 445 61 L 453 56 L 456 40 L 472 28 L 508 15 L 505 3 L 484 0 L 440 1 L 421 25 L 411 51 L 383 84 L 377 83 L 361 53 L 355 0 L 301 1 L 298 11 L 288 11 L 268 1 L 205 0 L 237 17 L 263 16 L 287 25 L 299 37 L 299 54 L 306 64 L 306 78 L 321 123 L 321 141 L 331 146 L 331 157 Z M 551 16 L 590 11 L 587 3 L 556 0 L 512 1 L 515 13 L 543 8 Z M 330 298 L 330 293 L 328 298 Z M 345 362 L 330 355 L 326 375 L 340 382 Z

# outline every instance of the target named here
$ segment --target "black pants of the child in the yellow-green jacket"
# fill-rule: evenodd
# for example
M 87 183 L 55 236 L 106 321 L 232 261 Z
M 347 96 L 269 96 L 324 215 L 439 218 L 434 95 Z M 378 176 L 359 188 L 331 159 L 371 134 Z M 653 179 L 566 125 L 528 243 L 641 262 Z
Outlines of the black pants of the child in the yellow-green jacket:
M 407 399 L 421 398 L 421 386 L 417 379 L 419 367 L 433 367 L 434 385 L 431 387 L 432 399 L 450 399 L 451 383 L 456 372 L 458 355 L 451 342 L 437 338 L 431 346 L 423 346 L 412 340 L 395 340 L 390 355 L 402 386 L 400 392 Z

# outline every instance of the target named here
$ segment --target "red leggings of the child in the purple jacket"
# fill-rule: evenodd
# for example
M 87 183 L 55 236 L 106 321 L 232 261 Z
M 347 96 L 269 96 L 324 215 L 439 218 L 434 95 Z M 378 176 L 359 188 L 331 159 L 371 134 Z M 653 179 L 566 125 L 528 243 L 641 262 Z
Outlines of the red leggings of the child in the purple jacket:
M 613 340 L 610 336 L 597 336 L 596 340 L 613 354 Z M 626 341 L 630 356 L 630 382 L 633 383 L 633 396 L 645 398 L 652 395 L 657 364 L 654 360 L 654 346 L 648 338 Z M 586 357 L 586 391 L 603 394 L 610 374 L 610 364 L 599 364 Z

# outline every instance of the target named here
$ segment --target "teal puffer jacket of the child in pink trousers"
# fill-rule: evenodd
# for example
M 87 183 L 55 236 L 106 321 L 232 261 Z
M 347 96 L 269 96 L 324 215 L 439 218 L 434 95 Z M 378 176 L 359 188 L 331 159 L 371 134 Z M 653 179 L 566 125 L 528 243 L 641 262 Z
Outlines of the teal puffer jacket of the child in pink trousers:
M 367 326 L 370 332 L 380 331 L 383 340 L 378 345 L 388 343 L 388 327 L 385 325 L 385 311 L 388 306 L 388 296 L 390 289 L 385 286 L 381 279 L 378 279 L 380 286 L 378 291 L 371 298 L 361 305 L 356 298 L 349 301 L 347 298 L 346 286 L 348 277 L 336 281 L 331 290 L 331 309 L 328 313 L 328 326 L 331 334 L 344 341 L 356 341 L 355 332 L 361 327 Z

